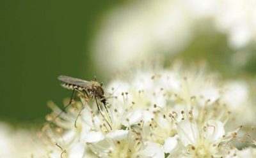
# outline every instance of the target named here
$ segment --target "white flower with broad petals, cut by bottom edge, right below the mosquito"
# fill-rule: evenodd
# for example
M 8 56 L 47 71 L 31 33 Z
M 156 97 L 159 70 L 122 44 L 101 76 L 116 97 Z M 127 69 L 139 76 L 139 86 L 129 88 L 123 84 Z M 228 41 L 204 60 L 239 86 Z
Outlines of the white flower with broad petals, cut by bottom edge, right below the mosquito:
M 88 144 L 100 157 L 164 157 L 161 145 L 141 141 L 135 131 L 113 131 L 104 140 Z

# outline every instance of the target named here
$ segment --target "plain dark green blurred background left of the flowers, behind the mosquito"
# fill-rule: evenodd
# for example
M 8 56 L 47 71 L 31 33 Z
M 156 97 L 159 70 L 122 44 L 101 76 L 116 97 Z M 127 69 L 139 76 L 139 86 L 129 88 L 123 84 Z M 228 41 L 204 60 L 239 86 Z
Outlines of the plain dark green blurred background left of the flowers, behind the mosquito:
M 1 1 L 0 119 L 41 122 L 70 91 L 58 75 L 92 80 L 89 45 L 97 20 L 115 1 Z

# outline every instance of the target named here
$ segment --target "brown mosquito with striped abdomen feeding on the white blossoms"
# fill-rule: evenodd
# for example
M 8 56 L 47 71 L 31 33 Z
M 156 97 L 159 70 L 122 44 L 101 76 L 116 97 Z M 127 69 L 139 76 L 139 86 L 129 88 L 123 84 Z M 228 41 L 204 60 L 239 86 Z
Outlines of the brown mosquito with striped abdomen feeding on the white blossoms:
M 79 78 L 73 78 L 70 76 L 58 76 L 58 80 L 61 80 L 62 82 L 64 82 L 62 84 L 62 87 L 73 90 L 69 103 L 63 108 L 61 113 L 63 113 L 63 111 L 65 111 L 68 108 L 68 106 L 70 106 L 70 104 L 72 104 L 72 98 L 74 96 L 75 91 L 83 94 L 84 98 L 86 98 L 86 99 L 90 99 L 90 100 L 95 99 L 97 108 L 98 108 L 100 114 L 102 115 L 102 117 L 104 117 L 104 115 L 100 111 L 100 106 L 98 103 L 99 101 L 104 104 L 104 107 L 106 108 L 106 111 L 108 112 L 108 108 L 107 108 L 108 103 L 106 102 L 107 99 L 106 99 L 106 97 L 104 97 L 104 89 L 102 88 L 103 83 L 97 82 L 95 76 L 93 78 L 93 81 L 90 81 L 90 82 L 86 81 L 86 80 L 81 80 Z M 83 110 L 83 108 L 81 110 Z M 51 122 L 49 122 L 49 124 L 51 124 L 55 119 L 60 117 L 61 113 L 59 113 L 59 115 L 57 115 Z M 79 112 L 79 114 L 80 113 L 81 113 L 81 111 Z M 77 115 L 77 118 L 78 118 L 79 114 Z M 76 120 L 77 120 L 77 118 L 76 118 Z M 104 119 L 106 120 L 105 117 L 104 117 Z M 108 123 L 109 127 L 112 129 L 108 120 L 106 120 L 106 122 Z M 75 127 L 76 127 L 76 122 L 75 122 Z

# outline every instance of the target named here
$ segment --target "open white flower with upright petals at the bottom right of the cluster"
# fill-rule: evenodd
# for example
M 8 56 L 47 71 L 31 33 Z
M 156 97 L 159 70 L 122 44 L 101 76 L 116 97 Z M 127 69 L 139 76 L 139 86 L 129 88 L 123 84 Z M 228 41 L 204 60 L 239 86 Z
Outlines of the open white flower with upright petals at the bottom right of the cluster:
M 188 157 L 219 157 L 219 152 L 225 151 L 223 142 L 236 137 L 236 132 L 225 134 L 222 122 L 215 120 L 201 125 L 193 120 L 181 120 L 177 131 L 180 145 L 186 148 L 182 154 Z

